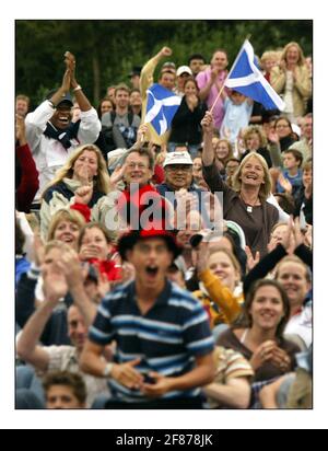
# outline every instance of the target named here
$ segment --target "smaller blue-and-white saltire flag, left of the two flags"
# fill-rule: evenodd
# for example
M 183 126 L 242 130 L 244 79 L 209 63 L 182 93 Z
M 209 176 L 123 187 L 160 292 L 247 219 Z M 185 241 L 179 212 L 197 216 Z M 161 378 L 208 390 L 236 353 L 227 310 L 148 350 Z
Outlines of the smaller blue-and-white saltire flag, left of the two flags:
M 162 136 L 171 127 L 181 99 L 157 83 L 153 84 L 147 91 L 147 94 L 144 123 L 151 124 L 156 132 Z

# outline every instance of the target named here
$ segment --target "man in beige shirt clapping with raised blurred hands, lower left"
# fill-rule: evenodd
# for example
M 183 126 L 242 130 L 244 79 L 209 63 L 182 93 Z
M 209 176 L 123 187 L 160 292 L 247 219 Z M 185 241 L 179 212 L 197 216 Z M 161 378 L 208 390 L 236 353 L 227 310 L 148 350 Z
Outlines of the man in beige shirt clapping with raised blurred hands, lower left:
M 85 344 L 87 325 L 94 319 L 95 310 L 92 310 L 91 315 L 87 316 L 82 315 L 77 305 L 71 305 L 68 311 L 68 336 L 72 345 L 45 347 L 38 344 L 54 310 L 68 292 L 69 285 L 63 270 L 59 269 L 58 262 L 65 253 L 69 254 L 70 252 L 70 248 L 65 248 L 65 244 L 61 243 L 61 251 L 57 253 L 56 257 L 54 255 L 54 259 L 48 261 L 46 267 L 44 267 L 43 278 L 46 300 L 30 317 L 17 340 L 17 355 L 22 360 L 32 365 L 39 374 L 47 374 L 51 371 L 80 373 L 79 359 Z M 72 287 L 70 287 L 70 291 L 72 291 Z M 81 305 L 84 301 L 84 311 L 87 308 L 90 309 L 89 305 L 85 305 L 90 303 L 90 300 L 85 297 L 84 288 L 80 292 L 79 301 Z M 96 395 L 101 393 L 108 394 L 108 388 L 104 380 L 83 373 L 81 375 L 87 388 L 86 405 L 89 407 Z

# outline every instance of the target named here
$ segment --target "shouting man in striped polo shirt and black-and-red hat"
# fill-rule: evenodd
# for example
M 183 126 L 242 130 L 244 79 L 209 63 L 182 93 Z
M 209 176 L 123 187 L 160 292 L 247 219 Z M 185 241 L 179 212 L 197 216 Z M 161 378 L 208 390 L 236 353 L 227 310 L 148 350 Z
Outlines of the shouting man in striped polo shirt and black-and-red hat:
M 130 232 L 118 247 L 136 267 L 136 282 L 105 298 L 81 368 L 109 380 L 113 400 L 107 408 L 201 408 L 199 388 L 214 377 L 213 339 L 199 302 L 166 280 L 179 246 L 169 232 L 150 229 Z M 132 329 L 121 315 L 129 315 Z M 151 334 L 142 332 L 145 319 Z M 115 363 L 106 365 L 101 356 L 114 339 Z

